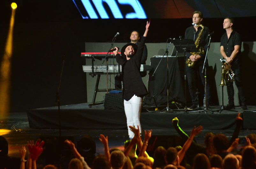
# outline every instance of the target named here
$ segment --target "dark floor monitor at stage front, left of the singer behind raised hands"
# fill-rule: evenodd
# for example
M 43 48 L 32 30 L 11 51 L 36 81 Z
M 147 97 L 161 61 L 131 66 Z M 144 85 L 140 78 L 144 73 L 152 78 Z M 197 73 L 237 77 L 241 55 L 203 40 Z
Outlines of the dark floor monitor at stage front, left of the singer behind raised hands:
M 39 157 L 40 164 L 48 165 L 54 164 L 55 166 L 68 166 L 73 154 L 69 145 L 64 143 L 66 139 L 75 143 L 75 139 L 72 136 L 57 136 L 57 137 L 41 137 L 41 140 L 45 142 L 43 148 L 44 151 Z M 76 144 L 76 143 L 75 143 Z

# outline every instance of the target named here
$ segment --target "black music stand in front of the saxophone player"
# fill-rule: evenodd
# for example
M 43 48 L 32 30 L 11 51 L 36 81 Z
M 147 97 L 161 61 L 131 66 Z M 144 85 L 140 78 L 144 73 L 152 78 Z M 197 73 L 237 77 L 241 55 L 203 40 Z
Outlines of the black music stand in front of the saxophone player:
M 186 75 L 186 52 L 197 52 L 197 48 L 195 47 L 195 43 L 192 39 L 173 39 L 172 43 L 178 52 L 184 52 L 184 80 L 185 80 L 185 112 L 187 112 L 187 75 Z M 197 105 L 197 109 L 199 109 L 199 105 Z M 200 108 L 201 109 L 201 108 Z M 203 110 L 189 111 L 189 112 L 201 112 Z

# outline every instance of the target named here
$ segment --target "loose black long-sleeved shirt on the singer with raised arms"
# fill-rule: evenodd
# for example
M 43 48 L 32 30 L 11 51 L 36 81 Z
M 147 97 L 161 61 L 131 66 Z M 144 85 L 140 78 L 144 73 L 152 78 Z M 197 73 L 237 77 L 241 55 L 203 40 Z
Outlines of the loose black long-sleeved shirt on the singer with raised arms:
M 116 61 L 122 65 L 123 99 L 127 101 L 134 95 L 143 97 L 148 94 L 140 75 L 141 57 L 145 46 L 145 38 L 146 37 L 142 37 L 135 55 L 129 60 L 127 60 L 126 57 L 122 57 L 120 54 L 115 56 Z

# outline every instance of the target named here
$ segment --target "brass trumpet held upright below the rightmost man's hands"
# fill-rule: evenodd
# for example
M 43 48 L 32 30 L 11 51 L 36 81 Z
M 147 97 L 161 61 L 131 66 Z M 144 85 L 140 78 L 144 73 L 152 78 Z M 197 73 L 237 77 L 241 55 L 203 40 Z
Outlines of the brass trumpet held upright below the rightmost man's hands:
M 226 81 L 234 81 L 234 76 L 235 73 L 232 71 L 232 69 L 230 68 L 229 64 L 227 63 L 227 61 L 225 59 L 220 59 L 221 63 L 222 63 L 222 71 L 221 71 L 221 84 L 220 86 L 225 86 L 224 83 L 224 79 Z

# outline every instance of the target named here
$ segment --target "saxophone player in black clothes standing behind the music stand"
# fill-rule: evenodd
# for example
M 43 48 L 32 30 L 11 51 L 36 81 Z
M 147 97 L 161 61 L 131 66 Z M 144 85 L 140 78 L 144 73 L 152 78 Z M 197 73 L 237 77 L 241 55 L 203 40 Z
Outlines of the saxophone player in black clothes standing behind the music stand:
M 207 50 L 207 38 L 209 34 L 209 29 L 206 26 L 202 26 L 201 22 L 203 20 L 203 13 L 201 11 L 194 11 L 192 21 L 193 25 L 188 27 L 185 32 L 185 39 L 193 39 L 194 42 L 197 41 L 197 38 L 200 40 L 198 41 L 198 48 L 202 47 L 204 49 L 204 53 L 201 54 L 191 54 L 186 53 L 186 60 L 189 58 L 190 61 L 194 62 L 194 66 L 186 65 L 186 74 L 187 74 L 187 82 L 188 82 L 188 89 L 190 96 L 192 98 L 192 105 L 188 107 L 188 110 L 193 110 L 198 105 L 198 95 L 197 92 L 197 82 L 200 81 L 203 85 L 204 83 L 204 74 L 202 73 L 205 53 Z M 201 26 L 197 26 L 201 25 Z M 199 35 L 201 34 L 201 37 Z M 206 64 L 208 66 L 208 63 Z M 200 77 L 197 76 L 199 74 Z M 198 79 L 198 80 L 197 80 Z M 211 90 L 210 84 L 206 83 L 206 96 L 207 96 L 207 103 L 209 105 L 210 98 L 211 98 Z

